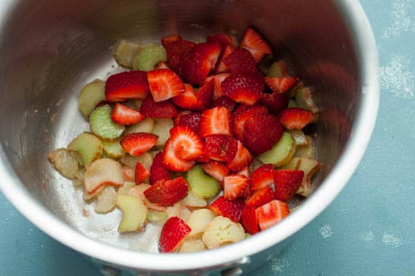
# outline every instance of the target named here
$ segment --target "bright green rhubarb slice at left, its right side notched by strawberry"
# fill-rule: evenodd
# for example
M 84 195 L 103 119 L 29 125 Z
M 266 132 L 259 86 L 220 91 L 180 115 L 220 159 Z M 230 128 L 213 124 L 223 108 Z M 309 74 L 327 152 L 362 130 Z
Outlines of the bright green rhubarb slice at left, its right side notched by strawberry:
M 89 116 L 91 131 L 102 139 L 116 139 L 122 135 L 125 128 L 116 124 L 111 119 L 111 108 L 109 105 L 95 108 Z

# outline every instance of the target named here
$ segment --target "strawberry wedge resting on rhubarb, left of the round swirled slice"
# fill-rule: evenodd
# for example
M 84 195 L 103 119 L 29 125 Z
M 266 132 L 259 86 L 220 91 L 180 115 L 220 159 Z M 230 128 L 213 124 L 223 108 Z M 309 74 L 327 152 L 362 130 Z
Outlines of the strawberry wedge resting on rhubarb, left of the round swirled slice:
M 133 132 L 122 137 L 120 145 L 133 156 L 140 156 L 156 144 L 158 137 L 153 133 Z

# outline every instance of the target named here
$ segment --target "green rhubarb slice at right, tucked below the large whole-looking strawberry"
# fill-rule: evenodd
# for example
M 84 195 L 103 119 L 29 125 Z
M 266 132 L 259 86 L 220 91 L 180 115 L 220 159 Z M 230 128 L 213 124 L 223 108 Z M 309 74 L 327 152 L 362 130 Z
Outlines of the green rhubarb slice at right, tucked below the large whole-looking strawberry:
M 295 152 L 295 141 L 287 132 L 284 132 L 281 139 L 270 150 L 259 155 L 258 159 L 264 164 L 282 166 L 290 161 Z

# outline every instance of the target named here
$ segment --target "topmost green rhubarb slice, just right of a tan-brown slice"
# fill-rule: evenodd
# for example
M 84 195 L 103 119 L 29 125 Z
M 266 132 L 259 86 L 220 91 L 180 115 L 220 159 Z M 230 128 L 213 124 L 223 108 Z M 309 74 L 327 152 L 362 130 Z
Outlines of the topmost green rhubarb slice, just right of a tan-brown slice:
M 134 57 L 133 69 L 143 71 L 153 70 L 159 61 L 167 61 L 165 48 L 156 43 L 143 44 Z

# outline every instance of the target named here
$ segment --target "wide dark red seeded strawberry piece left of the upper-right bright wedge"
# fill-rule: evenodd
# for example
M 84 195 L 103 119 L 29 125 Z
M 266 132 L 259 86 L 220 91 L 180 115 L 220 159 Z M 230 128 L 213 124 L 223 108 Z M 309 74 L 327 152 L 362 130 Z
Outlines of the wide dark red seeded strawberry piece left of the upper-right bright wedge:
M 221 83 L 225 95 L 248 106 L 252 106 L 261 98 L 264 86 L 262 77 L 246 73 L 232 74 Z

